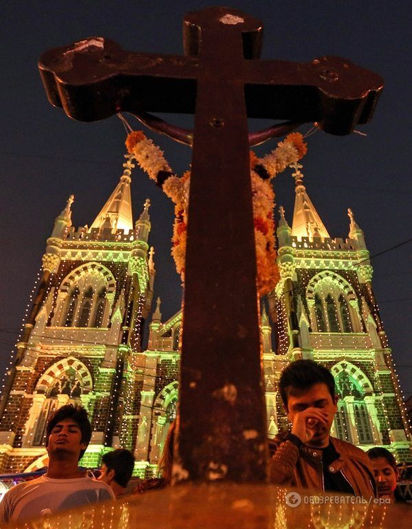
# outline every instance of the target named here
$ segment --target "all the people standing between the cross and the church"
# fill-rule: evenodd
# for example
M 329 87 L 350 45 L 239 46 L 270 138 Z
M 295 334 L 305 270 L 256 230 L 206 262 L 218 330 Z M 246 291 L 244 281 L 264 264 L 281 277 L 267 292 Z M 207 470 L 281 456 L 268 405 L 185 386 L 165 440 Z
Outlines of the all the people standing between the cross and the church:
M 292 428 L 269 442 L 273 484 L 402 501 L 397 491 L 398 468 L 389 450 L 376 447 L 365 453 L 330 435 L 338 397 L 328 369 L 312 360 L 292 362 L 281 374 L 279 391 Z M 173 423 L 159 477 L 138 481 L 134 493 L 171 484 L 174 433 Z M 0 503 L 0 523 L 125 497 L 135 464 L 133 454 L 123 448 L 105 453 L 100 475 L 94 479 L 78 466 L 90 439 L 85 408 L 67 404 L 55 411 L 46 427 L 47 472 L 6 492 Z

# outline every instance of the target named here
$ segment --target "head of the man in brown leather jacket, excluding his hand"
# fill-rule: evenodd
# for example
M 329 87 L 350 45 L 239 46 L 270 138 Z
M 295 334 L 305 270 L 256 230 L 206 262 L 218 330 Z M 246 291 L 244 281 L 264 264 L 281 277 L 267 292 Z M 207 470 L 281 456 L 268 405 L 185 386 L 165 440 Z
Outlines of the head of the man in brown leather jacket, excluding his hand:
M 329 437 L 338 402 L 334 377 L 329 369 L 313 360 L 291 362 L 282 371 L 279 391 L 285 412 L 292 423 L 296 413 L 307 408 L 321 408 L 327 414 L 327 424 L 319 425 L 312 439 L 314 444 L 323 444 Z

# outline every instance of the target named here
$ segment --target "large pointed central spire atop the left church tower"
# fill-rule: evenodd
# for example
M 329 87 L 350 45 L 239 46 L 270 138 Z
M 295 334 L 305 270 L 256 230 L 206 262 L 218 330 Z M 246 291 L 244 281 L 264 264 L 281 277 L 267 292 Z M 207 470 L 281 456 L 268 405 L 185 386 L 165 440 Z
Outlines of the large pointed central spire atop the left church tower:
M 126 158 L 126 162 L 123 164 L 124 171 L 120 177 L 120 182 L 109 196 L 109 200 L 102 207 L 98 216 L 94 219 L 90 230 L 93 228 L 104 229 L 108 227 L 115 233 L 118 229 L 124 229 L 125 232 L 133 229 L 130 175 L 131 169 L 135 166 L 131 161 L 133 158 L 131 154 L 125 154 L 124 158 Z

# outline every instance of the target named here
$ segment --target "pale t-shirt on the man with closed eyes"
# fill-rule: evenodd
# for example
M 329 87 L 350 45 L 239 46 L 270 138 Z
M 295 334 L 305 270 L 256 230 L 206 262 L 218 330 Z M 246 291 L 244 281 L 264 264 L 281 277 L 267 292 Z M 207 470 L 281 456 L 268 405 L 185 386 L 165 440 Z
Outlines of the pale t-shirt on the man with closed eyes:
M 109 485 L 91 477 L 41 476 L 6 492 L 0 503 L 0 523 L 38 518 L 107 499 L 115 499 Z

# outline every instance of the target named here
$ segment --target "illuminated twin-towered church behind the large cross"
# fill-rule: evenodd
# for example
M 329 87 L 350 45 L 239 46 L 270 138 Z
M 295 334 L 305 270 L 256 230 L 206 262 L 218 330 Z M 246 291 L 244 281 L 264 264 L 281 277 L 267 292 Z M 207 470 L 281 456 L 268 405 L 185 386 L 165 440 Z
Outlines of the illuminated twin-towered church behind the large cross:
M 47 417 L 78 402 L 93 428 L 85 466 L 100 466 L 105 452 L 121 446 L 135 455 L 135 475 L 155 474 L 176 413 L 182 313 L 162 322 L 158 299 L 143 350 L 155 291 L 150 204 L 146 200 L 133 223 L 134 165 L 126 158 L 120 182 L 91 226 L 72 225 L 70 197 L 47 239 L 39 291 L 3 391 L 0 473 L 45 466 Z M 348 237 L 331 238 L 307 195 L 301 166 L 293 167 L 291 226 L 279 209 L 281 280 L 262 300 L 268 437 L 288 428 L 278 391 L 281 370 L 312 358 L 336 380 L 340 400 L 332 435 L 364 449 L 386 446 L 398 461 L 411 461 L 409 422 L 362 229 L 348 210 Z

